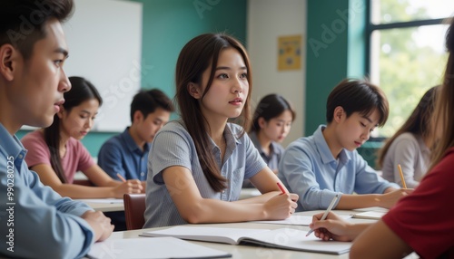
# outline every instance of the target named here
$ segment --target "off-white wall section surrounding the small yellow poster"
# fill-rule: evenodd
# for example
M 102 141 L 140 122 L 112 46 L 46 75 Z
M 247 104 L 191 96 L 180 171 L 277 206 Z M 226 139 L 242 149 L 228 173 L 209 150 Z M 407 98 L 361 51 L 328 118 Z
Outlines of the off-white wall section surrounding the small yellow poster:
M 306 72 L 306 1 L 249 0 L 247 49 L 252 61 L 252 109 L 263 96 L 279 93 L 291 101 L 296 120 L 282 145 L 298 139 L 304 132 L 304 92 Z M 278 37 L 302 35 L 301 70 L 279 72 Z

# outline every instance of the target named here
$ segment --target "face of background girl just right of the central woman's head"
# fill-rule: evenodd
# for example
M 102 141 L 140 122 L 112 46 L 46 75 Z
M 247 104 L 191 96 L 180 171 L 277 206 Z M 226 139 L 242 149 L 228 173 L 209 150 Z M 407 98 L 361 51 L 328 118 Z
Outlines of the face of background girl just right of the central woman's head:
M 259 119 L 260 131 L 267 139 L 281 143 L 290 132 L 292 120 L 291 111 L 284 110 L 281 115 L 271 120 Z

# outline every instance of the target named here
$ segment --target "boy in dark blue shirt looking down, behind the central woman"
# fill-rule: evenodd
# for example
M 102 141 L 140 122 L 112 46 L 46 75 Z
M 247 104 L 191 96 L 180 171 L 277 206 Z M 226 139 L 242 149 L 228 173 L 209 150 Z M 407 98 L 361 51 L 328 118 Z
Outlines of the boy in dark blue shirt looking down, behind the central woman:
M 139 91 L 131 102 L 131 126 L 105 141 L 98 153 L 98 165 L 114 179 L 120 174 L 142 181 L 145 189 L 150 144 L 173 110 L 163 91 Z

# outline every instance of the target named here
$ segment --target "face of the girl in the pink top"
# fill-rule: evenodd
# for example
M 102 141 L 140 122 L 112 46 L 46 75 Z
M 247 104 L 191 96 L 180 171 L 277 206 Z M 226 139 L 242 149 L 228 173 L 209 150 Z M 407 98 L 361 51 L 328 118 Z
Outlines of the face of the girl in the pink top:
M 93 128 L 98 109 L 99 101 L 97 99 L 81 102 L 69 111 L 62 109 L 58 112 L 58 117 L 61 119 L 61 133 L 74 139 L 84 139 Z

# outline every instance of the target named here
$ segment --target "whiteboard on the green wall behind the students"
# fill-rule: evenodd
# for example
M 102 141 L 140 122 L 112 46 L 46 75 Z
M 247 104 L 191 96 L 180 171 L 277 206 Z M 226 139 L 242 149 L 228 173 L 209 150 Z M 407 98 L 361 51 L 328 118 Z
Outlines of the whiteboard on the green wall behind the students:
M 142 3 L 75 0 L 64 34 L 64 71 L 92 82 L 103 97 L 94 128 L 120 132 L 131 124 L 130 104 L 141 87 Z

